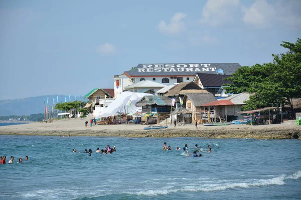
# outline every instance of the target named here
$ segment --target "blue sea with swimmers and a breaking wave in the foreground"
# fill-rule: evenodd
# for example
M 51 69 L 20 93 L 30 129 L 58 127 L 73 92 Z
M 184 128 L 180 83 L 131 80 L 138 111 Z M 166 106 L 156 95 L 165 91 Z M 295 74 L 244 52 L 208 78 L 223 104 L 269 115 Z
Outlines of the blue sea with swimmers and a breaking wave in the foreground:
M 0 135 L 2 199 L 301 199 L 301 140 Z M 163 144 L 172 150 L 163 150 Z M 112 154 L 96 148 L 116 146 Z M 201 157 L 186 156 L 200 147 Z M 211 145 L 211 152 L 208 152 Z M 180 147 L 181 150 L 176 150 Z M 77 152 L 72 152 L 76 148 Z M 91 148 L 91 156 L 84 149 Z M 14 163 L 8 164 L 11 156 Z M 18 158 L 29 156 L 17 163 Z

